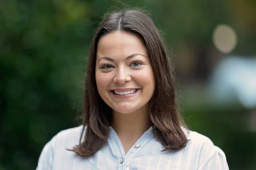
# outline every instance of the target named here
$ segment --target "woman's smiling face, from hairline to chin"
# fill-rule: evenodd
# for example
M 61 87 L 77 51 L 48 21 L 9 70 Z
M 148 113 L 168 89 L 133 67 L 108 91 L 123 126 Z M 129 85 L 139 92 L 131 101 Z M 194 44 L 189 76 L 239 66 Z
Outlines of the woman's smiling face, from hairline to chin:
M 155 89 L 147 49 L 129 32 L 114 31 L 100 38 L 95 77 L 101 98 L 123 114 L 147 109 Z

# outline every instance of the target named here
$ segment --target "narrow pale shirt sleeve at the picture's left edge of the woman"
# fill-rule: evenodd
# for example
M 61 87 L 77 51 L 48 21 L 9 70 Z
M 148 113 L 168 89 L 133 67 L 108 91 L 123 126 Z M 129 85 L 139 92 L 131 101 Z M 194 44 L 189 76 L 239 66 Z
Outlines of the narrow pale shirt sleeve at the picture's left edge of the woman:
M 36 170 L 51 170 L 53 160 L 52 140 L 46 143 L 38 160 Z

